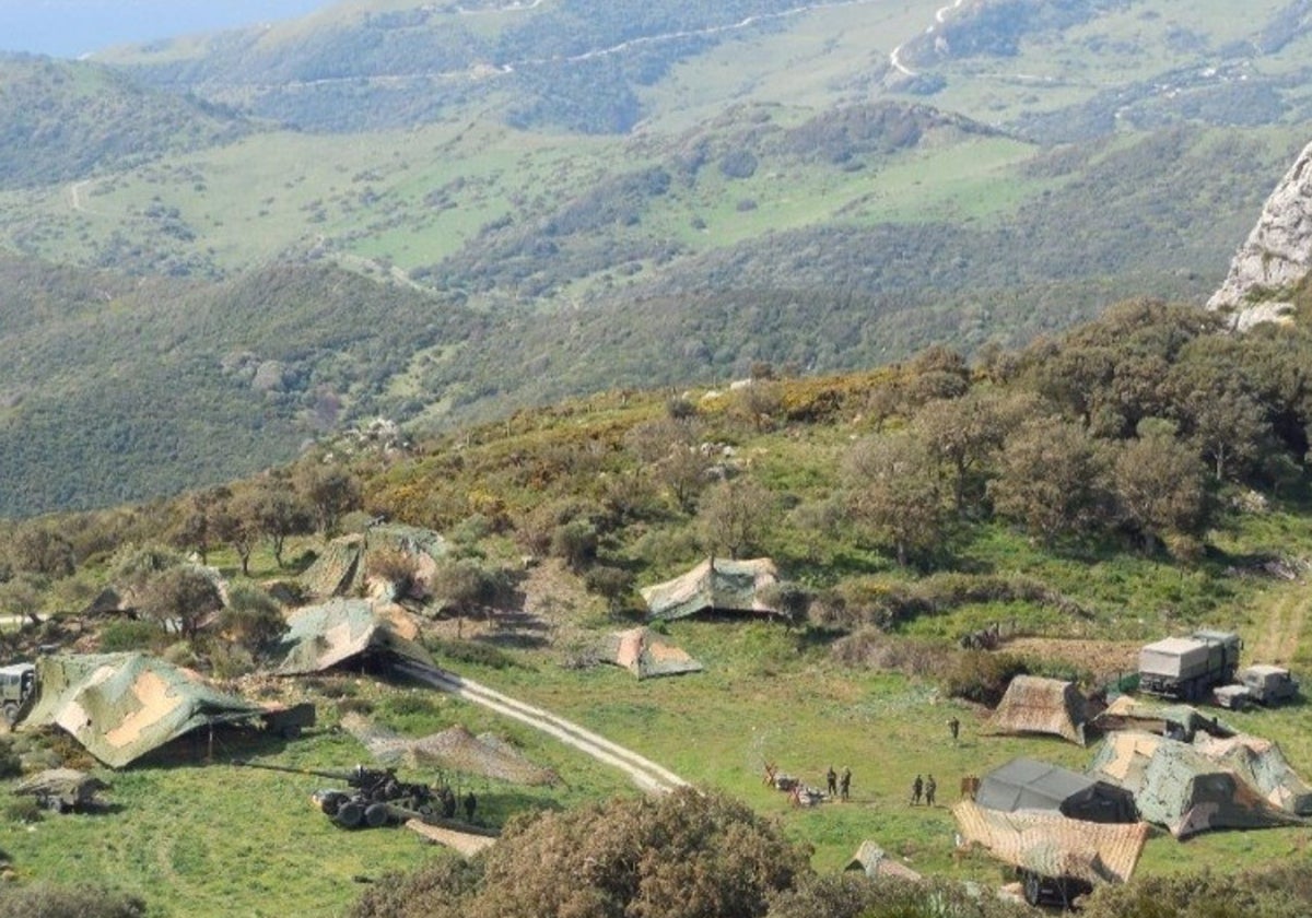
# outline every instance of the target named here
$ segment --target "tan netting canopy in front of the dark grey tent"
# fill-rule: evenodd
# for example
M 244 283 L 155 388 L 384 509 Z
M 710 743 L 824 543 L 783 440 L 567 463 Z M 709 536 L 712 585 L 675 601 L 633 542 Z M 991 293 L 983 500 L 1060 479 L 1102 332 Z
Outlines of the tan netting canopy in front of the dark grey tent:
M 1147 822 L 1084 822 L 1033 809 L 1004 813 L 971 800 L 955 804 L 953 816 L 964 842 L 998 860 L 1093 887 L 1128 883 L 1149 831 Z

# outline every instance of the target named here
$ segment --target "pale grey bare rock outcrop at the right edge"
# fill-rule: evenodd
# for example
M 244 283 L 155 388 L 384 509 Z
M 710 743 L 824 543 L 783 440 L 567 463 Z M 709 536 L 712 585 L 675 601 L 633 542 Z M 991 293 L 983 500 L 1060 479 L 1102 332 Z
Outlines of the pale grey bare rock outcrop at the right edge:
M 1308 144 L 1266 201 L 1208 309 L 1233 316 L 1245 329 L 1281 321 L 1294 309 L 1292 292 L 1312 271 L 1312 144 Z

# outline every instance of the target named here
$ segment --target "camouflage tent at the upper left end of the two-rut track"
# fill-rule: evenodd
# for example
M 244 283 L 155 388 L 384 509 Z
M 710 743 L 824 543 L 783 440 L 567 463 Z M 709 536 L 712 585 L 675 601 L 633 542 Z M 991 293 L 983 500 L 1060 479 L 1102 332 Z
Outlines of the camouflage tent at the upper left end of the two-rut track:
M 433 665 L 428 650 L 413 640 L 408 622 L 395 609 L 366 599 L 331 599 L 321 606 L 298 609 L 289 616 L 287 633 L 282 637 L 282 662 L 276 671 L 282 675 L 320 673 L 353 657 L 394 657 Z

